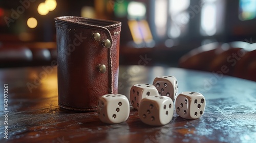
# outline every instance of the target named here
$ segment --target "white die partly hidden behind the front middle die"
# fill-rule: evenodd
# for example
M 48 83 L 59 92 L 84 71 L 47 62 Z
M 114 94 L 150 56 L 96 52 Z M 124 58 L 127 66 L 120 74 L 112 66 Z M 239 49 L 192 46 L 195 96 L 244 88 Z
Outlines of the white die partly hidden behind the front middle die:
M 152 84 L 135 84 L 130 90 L 130 102 L 135 109 L 139 109 L 140 101 L 148 96 L 158 96 L 157 88 Z

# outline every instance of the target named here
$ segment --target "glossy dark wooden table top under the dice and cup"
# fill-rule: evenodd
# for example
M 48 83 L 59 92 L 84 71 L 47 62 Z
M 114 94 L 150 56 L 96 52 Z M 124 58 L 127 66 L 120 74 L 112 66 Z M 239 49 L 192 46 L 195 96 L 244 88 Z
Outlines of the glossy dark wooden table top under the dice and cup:
M 178 92 L 201 92 L 206 109 L 197 120 L 175 113 L 169 124 L 152 127 L 143 124 L 131 107 L 126 122 L 108 125 L 96 112 L 59 108 L 57 69 L 48 69 L 48 73 L 44 67 L 0 69 L 0 142 L 256 142 L 256 82 L 181 68 L 120 66 L 119 93 L 129 97 L 132 85 L 172 75 L 178 80 Z M 8 84 L 7 110 L 4 84 Z

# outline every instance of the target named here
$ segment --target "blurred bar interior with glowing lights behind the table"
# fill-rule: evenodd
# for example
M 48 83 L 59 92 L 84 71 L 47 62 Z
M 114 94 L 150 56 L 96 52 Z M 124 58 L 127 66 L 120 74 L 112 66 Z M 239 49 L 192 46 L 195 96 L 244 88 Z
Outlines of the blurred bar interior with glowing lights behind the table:
M 0 0 L 0 67 L 51 64 L 57 16 L 121 21 L 120 65 L 256 72 L 256 0 Z

